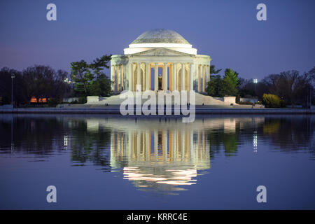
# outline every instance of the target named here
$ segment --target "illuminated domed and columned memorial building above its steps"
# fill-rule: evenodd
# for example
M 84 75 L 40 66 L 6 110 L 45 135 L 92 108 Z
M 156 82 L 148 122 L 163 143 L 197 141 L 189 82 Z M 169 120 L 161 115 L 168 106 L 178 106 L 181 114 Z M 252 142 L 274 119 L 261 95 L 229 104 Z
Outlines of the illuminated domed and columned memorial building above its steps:
M 208 55 L 197 55 L 183 36 L 169 29 L 152 29 L 111 57 L 112 90 L 195 90 L 205 92 L 210 78 Z M 141 90 L 136 90 L 141 85 Z

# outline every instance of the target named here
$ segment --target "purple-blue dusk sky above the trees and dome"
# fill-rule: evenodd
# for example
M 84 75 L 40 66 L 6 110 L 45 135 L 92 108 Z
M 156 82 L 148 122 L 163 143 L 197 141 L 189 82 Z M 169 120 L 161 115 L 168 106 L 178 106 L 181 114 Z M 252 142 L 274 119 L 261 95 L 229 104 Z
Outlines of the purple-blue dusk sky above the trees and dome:
M 46 20 L 55 3 L 57 21 Z M 256 19 L 258 3 L 267 21 Z M 315 66 L 315 1 L 1 1 L 0 67 L 70 63 L 123 54 L 148 29 L 172 29 L 242 78 Z M 109 75 L 109 71 L 106 71 Z

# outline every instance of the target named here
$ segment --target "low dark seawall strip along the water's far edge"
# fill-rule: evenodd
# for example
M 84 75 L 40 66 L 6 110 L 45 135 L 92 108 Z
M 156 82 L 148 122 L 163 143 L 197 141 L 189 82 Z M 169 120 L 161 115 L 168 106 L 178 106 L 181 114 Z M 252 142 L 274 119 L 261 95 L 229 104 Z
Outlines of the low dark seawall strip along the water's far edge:
M 157 107 L 158 112 L 158 107 Z M 18 108 L 18 109 L 0 109 L 0 113 L 104 113 L 104 114 L 120 114 L 119 106 L 111 106 L 109 108 Z M 235 108 L 209 108 L 207 106 L 196 106 L 195 114 L 315 114 L 315 110 L 311 109 L 235 109 Z M 128 115 L 128 116 L 136 116 Z M 137 115 L 137 116 L 144 116 Z M 150 115 L 152 116 L 152 115 Z M 158 113 L 157 113 L 157 116 Z M 160 116 L 178 116 L 160 115 Z

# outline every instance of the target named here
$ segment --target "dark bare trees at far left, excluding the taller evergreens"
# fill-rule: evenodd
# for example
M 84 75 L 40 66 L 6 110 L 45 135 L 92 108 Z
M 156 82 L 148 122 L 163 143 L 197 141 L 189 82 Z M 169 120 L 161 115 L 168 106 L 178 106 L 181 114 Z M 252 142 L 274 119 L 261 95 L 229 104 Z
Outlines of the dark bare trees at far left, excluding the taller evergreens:
M 0 97 L 2 104 L 11 104 L 13 78 L 13 102 L 15 106 L 27 105 L 31 97 L 62 99 L 70 91 L 64 80 L 68 73 L 50 66 L 34 65 L 23 71 L 3 67 L 0 70 Z

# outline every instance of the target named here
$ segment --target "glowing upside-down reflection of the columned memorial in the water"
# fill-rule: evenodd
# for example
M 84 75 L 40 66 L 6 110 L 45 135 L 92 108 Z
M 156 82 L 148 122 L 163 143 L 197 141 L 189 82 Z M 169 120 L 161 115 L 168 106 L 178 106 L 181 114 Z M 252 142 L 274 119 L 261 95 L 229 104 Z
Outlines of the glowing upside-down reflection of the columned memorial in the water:
M 183 190 L 177 186 L 195 184 L 197 170 L 210 168 L 205 130 L 175 120 L 139 123 L 111 135 L 111 167 L 123 168 L 124 179 L 135 186 Z

